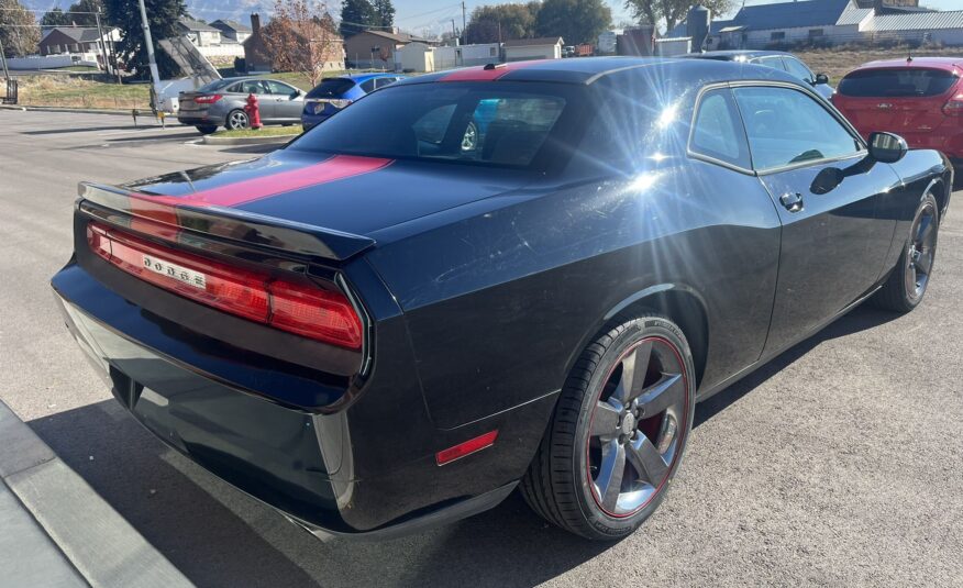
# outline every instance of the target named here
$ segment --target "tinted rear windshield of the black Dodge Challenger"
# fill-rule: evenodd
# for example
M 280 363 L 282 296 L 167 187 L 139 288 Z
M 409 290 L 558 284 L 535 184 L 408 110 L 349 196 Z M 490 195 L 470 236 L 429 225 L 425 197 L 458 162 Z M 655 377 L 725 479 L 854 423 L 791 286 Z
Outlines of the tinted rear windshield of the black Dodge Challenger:
M 392 86 L 295 141 L 295 151 L 527 167 L 564 132 L 577 87 L 532 82 Z

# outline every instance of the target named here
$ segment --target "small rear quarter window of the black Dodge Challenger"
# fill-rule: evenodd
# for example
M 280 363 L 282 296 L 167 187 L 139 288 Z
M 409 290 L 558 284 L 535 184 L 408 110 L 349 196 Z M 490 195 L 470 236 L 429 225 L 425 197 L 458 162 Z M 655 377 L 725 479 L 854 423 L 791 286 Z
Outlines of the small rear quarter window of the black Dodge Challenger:
M 709 90 L 702 95 L 693 123 L 689 149 L 745 169 L 751 167 L 745 133 L 728 89 Z

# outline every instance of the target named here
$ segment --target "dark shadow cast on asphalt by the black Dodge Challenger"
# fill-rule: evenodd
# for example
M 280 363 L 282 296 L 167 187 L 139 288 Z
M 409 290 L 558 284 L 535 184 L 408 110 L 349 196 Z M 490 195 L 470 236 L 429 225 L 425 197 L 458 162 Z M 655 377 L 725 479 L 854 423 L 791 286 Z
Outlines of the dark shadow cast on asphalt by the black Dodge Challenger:
M 896 318 L 856 309 L 700 404 L 696 425 L 820 342 Z M 518 492 L 489 512 L 421 535 L 325 544 L 163 445 L 112 400 L 30 424 L 198 586 L 528 587 L 611 547 L 545 523 Z

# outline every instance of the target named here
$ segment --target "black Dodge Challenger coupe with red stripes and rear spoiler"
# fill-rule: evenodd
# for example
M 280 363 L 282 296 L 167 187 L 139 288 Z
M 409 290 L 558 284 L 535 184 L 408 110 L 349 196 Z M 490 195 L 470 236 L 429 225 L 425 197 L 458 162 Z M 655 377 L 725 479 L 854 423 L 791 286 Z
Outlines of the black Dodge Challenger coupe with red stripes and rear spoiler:
M 864 300 L 920 302 L 950 186 L 772 68 L 485 66 L 258 159 L 81 184 L 53 288 L 134 418 L 319 536 L 519 486 L 618 539 L 696 402 Z

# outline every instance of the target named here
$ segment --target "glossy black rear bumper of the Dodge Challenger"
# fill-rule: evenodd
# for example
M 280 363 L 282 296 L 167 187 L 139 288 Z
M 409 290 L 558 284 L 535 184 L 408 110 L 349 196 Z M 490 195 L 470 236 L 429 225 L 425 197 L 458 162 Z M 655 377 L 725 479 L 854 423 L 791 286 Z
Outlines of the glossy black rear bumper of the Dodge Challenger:
M 544 422 L 554 403 L 550 395 L 469 425 L 438 430 L 425 414 L 420 388 L 403 375 L 412 362 L 398 357 L 375 369 L 388 384 L 373 376 L 364 395 L 344 410 L 300 410 L 132 339 L 125 333 L 146 329 L 134 322 L 150 320 L 157 329 L 158 319 L 130 302 L 119 308 L 110 290 L 75 263 L 54 277 L 53 287 L 70 333 L 141 424 L 321 539 L 388 539 L 496 506 L 538 446 L 542 428 L 531 423 Z M 380 339 L 389 337 L 386 332 Z M 438 451 L 494 429 L 499 430 L 494 446 L 436 465 Z

